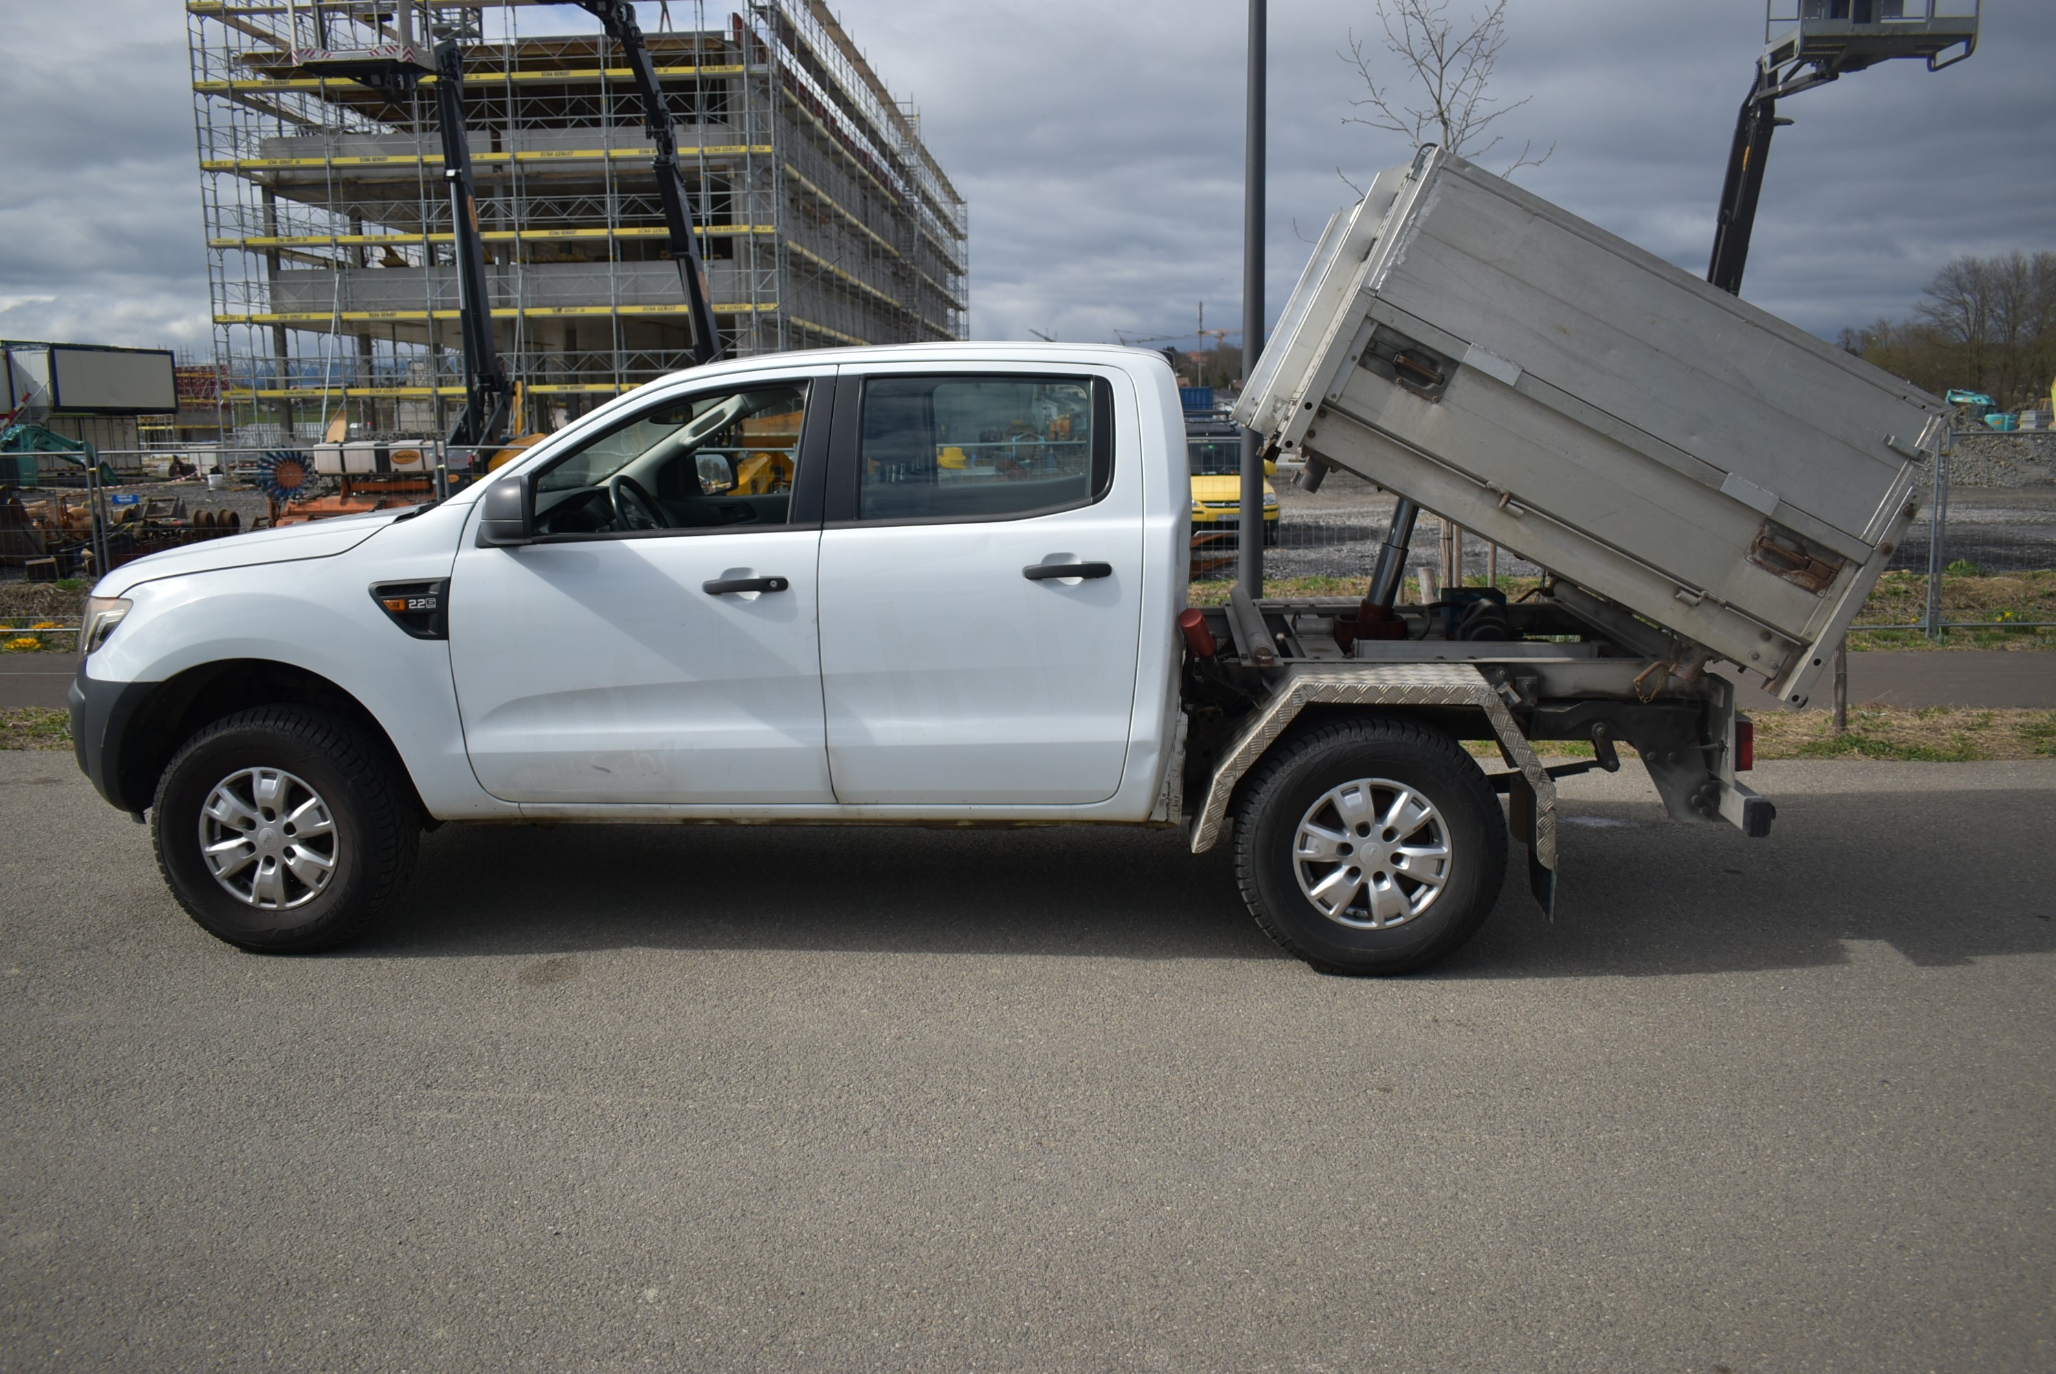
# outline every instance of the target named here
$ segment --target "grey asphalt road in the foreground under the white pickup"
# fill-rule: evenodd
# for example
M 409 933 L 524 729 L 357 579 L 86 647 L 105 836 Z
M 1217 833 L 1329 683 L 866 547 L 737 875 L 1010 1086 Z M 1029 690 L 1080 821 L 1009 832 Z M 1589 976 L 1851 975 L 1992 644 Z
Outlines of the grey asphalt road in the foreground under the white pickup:
M 1349 981 L 1153 831 L 448 827 L 257 959 L 0 755 L 0 1368 L 2052 1368 L 2056 763 L 1758 786 Z

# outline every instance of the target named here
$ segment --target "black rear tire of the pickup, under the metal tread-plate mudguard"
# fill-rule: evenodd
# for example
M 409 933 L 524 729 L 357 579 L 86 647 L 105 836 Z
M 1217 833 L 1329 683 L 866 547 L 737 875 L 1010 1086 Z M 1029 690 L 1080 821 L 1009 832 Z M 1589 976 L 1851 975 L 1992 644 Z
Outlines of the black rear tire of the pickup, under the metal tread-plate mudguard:
M 1433 819 L 1423 819 L 1396 837 L 1390 829 L 1357 833 L 1363 831 L 1361 821 L 1343 827 L 1353 831 L 1345 835 L 1349 847 L 1338 845 L 1345 856 L 1355 856 L 1357 841 L 1365 841 L 1367 849 L 1380 845 L 1363 868 L 1375 874 L 1380 891 L 1398 895 L 1386 897 L 1388 903 L 1410 907 L 1417 893 L 1433 887 L 1433 880 L 1423 882 L 1402 872 L 1410 864 L 1441 882 L 1419 913 L 1402 911 L 1384 928 L 1371 926 L 1373 882 L 1365 882 L 1351 899 L 1361 907 L 1338 901 L 1338 919 L 1316 907 L 1299 880 L 1295 845 L 1301 825 L 1334 829 L 1338 821 L 1347 821 L 1330 798 L 1359 782 L 1408 788 L 1433 808 Z M 1380 806 L 1398 800 L 1398 792 L 1365 788 L 1363 798 L 1375 800 L 1361 815 L 1378 815 Z M 1400 821 L 1400 827 L 1406 825 Z M 1431 856 L 1437 827 L 1445 858 Z M 1392 866 L 1390 845 L 1412 845 L 1417 852 Z M 1361 862 L 1365 856 L 1355 858 Z M 1380 870 L 1382 864 L 1392 870 Z M 1349 882 L 1357 880 L 1353 874 L 1363 870 L 1353 870 L 1347 858 L 1338 858 L 1334 864 L 1308 860 L 1306 872 L 1318 893 L 1326 874 L 1336 874 L 1338 891 L 1349 891 Z M 1484 773 L 1454 738 L 1412 720 L 1361 716 L 1304 730 L 1264 757 L 1244 782 L 1236 804 L 1236 878 L 1242 899 L 1264 934 L 1322 973 L 1388 975 L 1425 969 L 1476 934 L 1499 901 L 1505 872 L 1507 821 Z

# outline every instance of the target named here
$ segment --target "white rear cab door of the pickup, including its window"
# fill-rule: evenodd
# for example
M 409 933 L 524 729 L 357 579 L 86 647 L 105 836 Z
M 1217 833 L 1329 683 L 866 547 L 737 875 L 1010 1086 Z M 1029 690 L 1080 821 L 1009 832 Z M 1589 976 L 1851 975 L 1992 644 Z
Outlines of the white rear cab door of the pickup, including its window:
M 1090 804 L 1127 761 L 1143 483 L 1118 370 L 845 368 L 820 541 L 843 804 Z

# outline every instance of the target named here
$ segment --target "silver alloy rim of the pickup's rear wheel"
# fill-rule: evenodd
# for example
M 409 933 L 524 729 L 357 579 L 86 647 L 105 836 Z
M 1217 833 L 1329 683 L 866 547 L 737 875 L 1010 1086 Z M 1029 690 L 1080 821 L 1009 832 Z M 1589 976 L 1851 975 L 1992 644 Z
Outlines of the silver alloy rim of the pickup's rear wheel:
M 1308 806 L 1293 837 L 1291 870 L 1330 921 L 1392 930 L 1441 897 L 1449 880 L 1449 827 L 1406 784 L 1359 778 Z

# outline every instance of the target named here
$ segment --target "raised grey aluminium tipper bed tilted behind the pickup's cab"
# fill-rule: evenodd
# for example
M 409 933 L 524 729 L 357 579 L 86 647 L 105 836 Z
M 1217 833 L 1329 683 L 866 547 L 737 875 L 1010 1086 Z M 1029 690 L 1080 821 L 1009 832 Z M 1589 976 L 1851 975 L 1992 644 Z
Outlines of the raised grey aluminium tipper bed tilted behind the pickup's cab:
M 1805 703 L 1937 399 L 1462 158 L 1336 214 L 1236 420 Z

